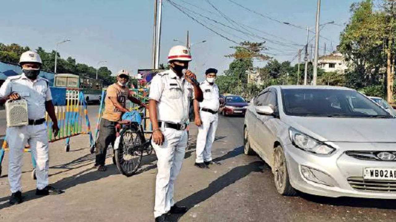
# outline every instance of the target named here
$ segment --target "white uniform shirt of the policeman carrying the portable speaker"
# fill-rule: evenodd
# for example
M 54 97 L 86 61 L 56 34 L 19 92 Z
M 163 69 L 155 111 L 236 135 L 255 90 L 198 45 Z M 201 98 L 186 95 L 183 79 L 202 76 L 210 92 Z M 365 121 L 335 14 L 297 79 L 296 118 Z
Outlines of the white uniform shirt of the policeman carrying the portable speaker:
M 45 117 L 45 102 L 52 100 L 47 79 L 38 76 L 32 81 L 24 73 L 8 77 L 0 87 L 0 97 L 5 98 L 13 93 L 18 93 L 26 100 L 29 119 L 36 120 Z

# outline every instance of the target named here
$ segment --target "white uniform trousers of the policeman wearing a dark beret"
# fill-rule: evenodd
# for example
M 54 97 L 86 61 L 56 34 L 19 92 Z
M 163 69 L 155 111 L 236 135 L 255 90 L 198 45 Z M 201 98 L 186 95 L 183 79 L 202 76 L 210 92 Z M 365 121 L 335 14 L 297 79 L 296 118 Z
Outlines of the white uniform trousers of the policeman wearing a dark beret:
M 212 160 L 212 144 L 215 141 L 219 115 L 206 111 L 200 111 L 202 124 L 198 127 L 196 145 L 196 163 L 203 163 Z

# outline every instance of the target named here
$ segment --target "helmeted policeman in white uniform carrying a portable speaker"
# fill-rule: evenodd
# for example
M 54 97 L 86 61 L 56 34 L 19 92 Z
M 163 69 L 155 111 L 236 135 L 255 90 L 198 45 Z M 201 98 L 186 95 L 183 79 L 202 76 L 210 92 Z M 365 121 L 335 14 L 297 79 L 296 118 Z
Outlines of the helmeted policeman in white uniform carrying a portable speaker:
M 22 53 L 19 65 L 23 73 L 8 77 L 0 87 L 0 103 L 23 98 L 27 102 L 29 125 L 8 127 L 7 143 L 10 147 L 8 181 L 11 186 L 10 204 L 22 202 L 21 166 L 25 144 L 29 143 L 36 160 L 36 195 L 61 194 L 62 191 L 48 186 L 48 134 L 45 114 L 53 121 L 53 132 L 59 132 L 55 109 L 52 104 L 48 80 L 39 77 L 41 58 L 36 52 Z

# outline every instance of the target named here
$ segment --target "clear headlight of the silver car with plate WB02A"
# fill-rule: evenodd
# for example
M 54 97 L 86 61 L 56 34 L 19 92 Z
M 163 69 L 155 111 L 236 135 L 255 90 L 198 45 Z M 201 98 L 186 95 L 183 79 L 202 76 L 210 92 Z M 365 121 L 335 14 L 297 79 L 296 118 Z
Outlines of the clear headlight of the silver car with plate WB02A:
M 315 154 L 331 154 L 335 151 L 333 147 L 318 141 L 310 137 L 309 135 L 303 134 L 295 128 L 289 128 L 289 136 L 293 145 L 303 151 L 312 152 Z

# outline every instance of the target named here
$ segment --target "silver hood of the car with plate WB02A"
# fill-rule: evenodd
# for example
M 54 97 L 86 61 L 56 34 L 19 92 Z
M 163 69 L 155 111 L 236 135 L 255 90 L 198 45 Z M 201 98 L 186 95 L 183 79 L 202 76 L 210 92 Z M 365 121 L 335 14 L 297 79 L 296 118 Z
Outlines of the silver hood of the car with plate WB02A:
M 320 141 L 396 143 L 396 119 L 287 116 L 285 122 Z

